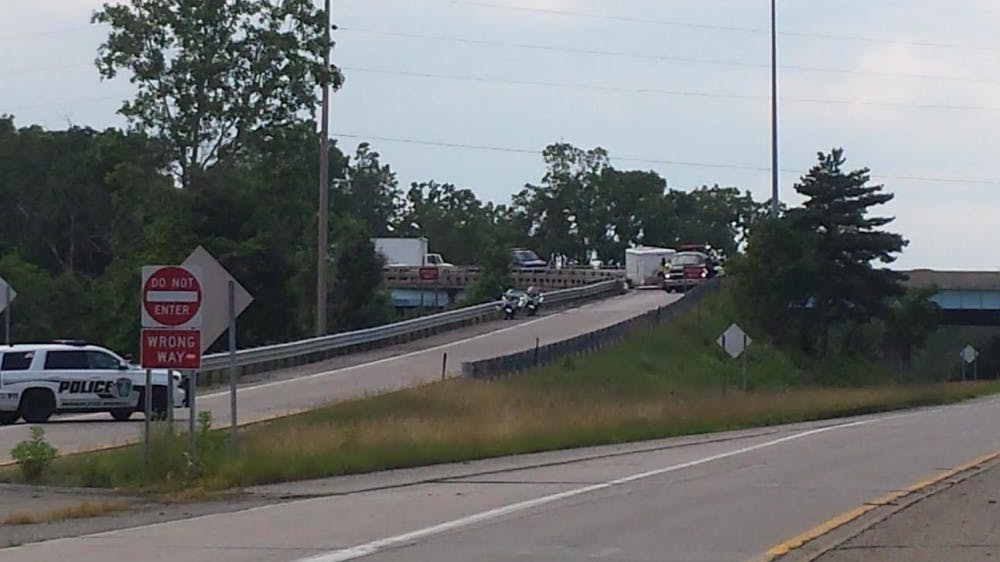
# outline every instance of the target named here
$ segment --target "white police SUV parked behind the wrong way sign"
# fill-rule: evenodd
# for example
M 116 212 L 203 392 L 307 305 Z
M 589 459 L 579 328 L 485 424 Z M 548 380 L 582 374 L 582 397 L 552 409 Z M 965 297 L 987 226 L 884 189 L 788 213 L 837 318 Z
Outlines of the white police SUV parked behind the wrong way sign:
M 187 403 L 187 377 L 154 370 L 153 413 L 160 417 L 168 407 L 168 376 L 174 377 L 174 406 Z M 125 421 L 145 409 L 145 387 L 145 370 L 85 342 L 0 346 L 0 425 L 84 412 L 110 412 Z

